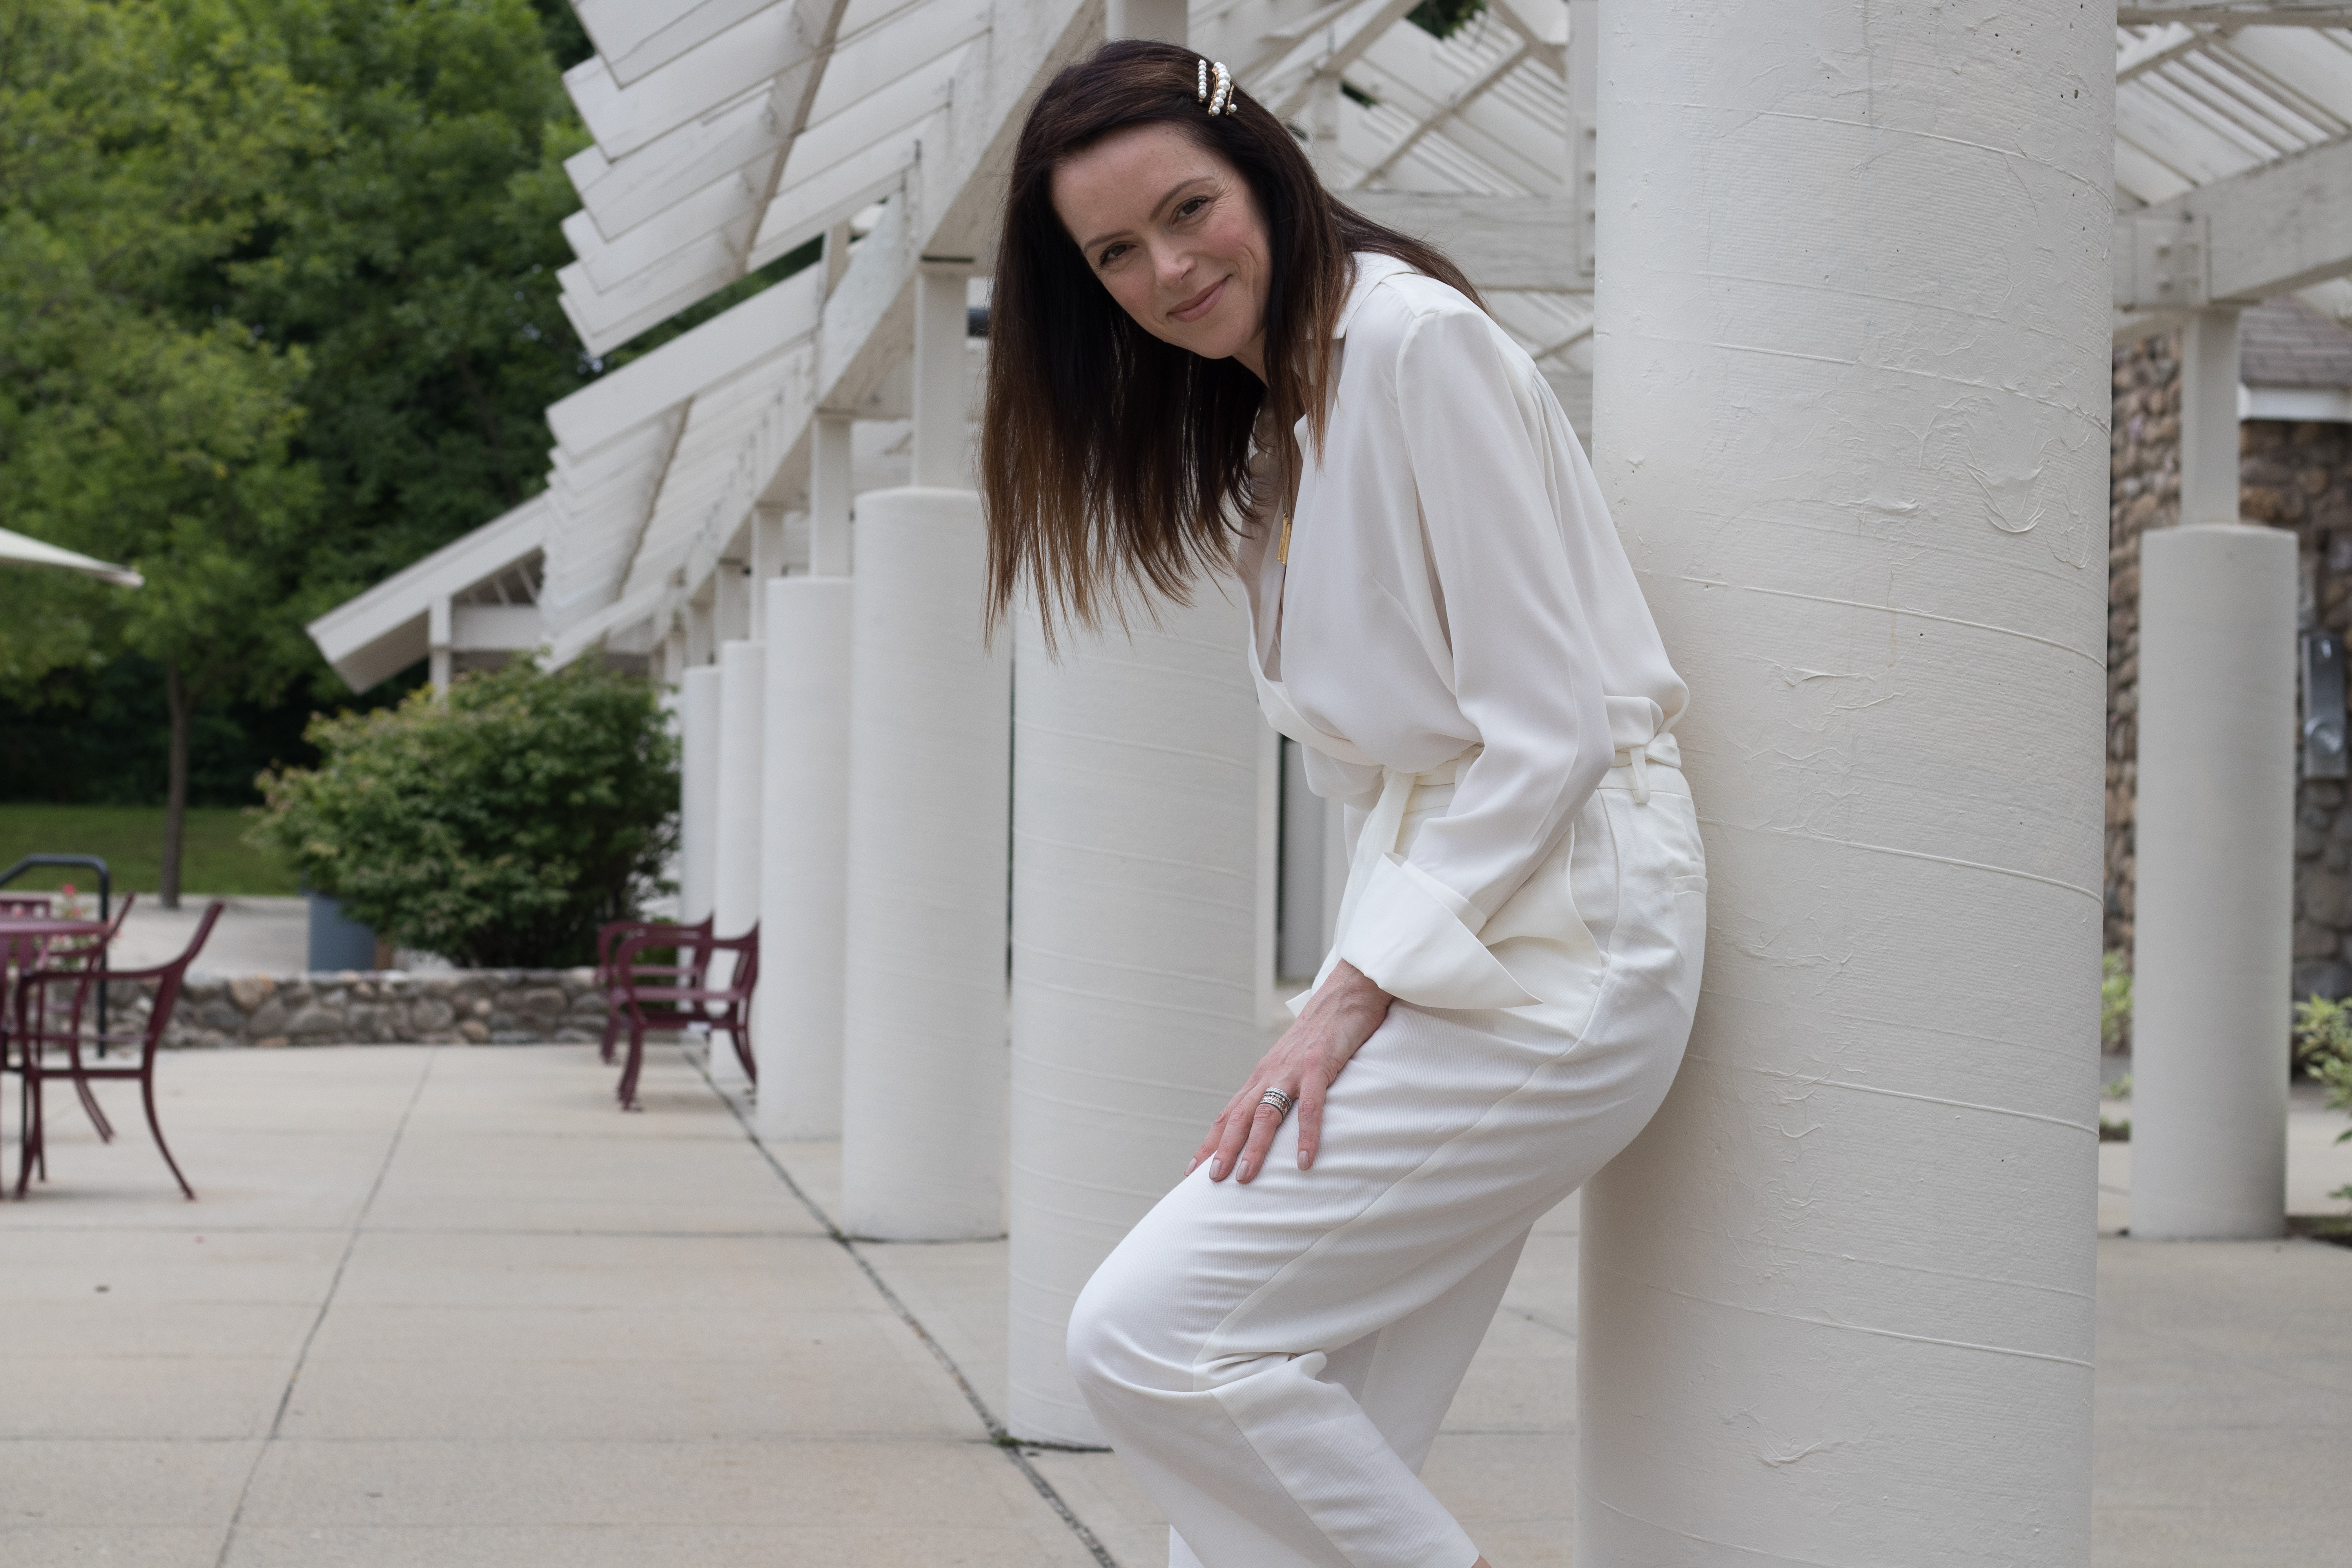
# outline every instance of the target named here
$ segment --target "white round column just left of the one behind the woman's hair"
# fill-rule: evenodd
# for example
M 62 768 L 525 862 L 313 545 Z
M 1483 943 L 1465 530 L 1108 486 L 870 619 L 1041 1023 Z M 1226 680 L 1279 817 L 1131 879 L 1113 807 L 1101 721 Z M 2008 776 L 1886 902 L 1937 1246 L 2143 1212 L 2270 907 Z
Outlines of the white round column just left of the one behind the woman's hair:
M 842 1222 L 1004 1234 L 1011 658 L 969 489 L 858 496 L 849 630 Z

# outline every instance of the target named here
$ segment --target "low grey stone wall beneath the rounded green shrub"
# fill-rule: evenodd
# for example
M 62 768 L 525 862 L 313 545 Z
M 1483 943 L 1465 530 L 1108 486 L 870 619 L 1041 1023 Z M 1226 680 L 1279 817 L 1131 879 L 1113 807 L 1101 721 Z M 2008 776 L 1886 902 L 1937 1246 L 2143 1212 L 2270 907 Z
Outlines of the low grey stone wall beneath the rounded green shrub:
M 108 987 L 122 1018 L 146 1020 L 139 985 Z M 310 973 L 191 978 L 165 1034 L 172 1048 L 447 1044 L 508 1046 L 604 1034 L 593 969 L 454 973 Z

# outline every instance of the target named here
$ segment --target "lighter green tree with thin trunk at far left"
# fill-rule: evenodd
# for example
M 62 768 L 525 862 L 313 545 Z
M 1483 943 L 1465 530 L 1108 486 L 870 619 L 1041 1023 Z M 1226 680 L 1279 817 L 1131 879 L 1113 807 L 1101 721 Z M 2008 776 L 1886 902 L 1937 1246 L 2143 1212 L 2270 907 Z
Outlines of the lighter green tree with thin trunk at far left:
M 219 282 L 325 141 L 315 94 L 226 0 L 0 0 L 0 524 L 148 576 L 12 581 L 0 675 L 24 691 L 115 646 L 158 661 L 165 903 L 193 710 L 303 668 L 306 364 Z

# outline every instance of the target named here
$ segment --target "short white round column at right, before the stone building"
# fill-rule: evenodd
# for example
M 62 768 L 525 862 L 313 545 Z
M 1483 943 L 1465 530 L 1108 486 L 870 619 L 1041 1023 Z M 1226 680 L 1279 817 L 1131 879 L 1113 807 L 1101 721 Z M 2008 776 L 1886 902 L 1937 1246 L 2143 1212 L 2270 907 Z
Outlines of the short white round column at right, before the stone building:
M 2131 1234 L 2286 1229 L 2296 536 L 2140 536 Z

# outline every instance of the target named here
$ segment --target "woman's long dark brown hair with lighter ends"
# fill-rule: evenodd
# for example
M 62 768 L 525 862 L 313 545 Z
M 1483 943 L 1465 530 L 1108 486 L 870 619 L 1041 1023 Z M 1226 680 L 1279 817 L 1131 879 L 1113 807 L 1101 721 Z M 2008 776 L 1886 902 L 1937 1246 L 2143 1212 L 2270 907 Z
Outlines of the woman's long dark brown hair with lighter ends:
M 1030 108 L 1004 195 L 988 303 L 988 621 L 1028 574 L 1047 639 L 1058 621 L 1094 628 L 1129 585 L 1190 602 L 1202 569 L 1232 559 L 1261 428 L 1319 442 L 1331 404 L 1331 331 L 1352 254 L 1376 252 L 1477 292 L 1437 249 L 1331 200 L 1298 141 L 1256 99 L 1211 118 L 1195 99 L 1200 56 L 1176 45 L 1108 42 L 1063 68 Z M 1202 360 L 1138 327 L 1094 277 L 1054 212 L 1054 169 L 1112 132 L 1167 122 L 1249 181 L 1270 240 L 1265 381 L 1237 360 Z

